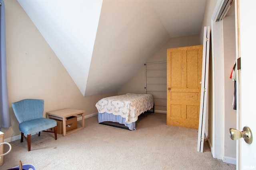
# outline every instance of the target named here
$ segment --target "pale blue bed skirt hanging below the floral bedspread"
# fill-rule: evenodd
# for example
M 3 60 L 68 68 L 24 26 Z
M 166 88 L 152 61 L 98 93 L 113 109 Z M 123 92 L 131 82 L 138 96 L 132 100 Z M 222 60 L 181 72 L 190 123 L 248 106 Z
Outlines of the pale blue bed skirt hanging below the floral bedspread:
M 127 124 L 125 123 L 125 118 L 121 117 L 120 115 L 113 115 L 112 113 L 98 113 L 98 121 L 99 123 L 102 123 L 104 121 L 118 122 L 128 127 L 131 131 L 136 130 L 135 122 Z

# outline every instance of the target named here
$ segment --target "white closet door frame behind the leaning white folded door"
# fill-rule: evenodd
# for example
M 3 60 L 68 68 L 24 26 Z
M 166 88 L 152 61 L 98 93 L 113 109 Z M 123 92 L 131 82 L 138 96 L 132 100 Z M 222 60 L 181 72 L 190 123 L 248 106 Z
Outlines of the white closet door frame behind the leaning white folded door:
M 211 19 L 212 35 L 212 156 L 224 156 L 224 54 L 222 21 L 215 22 L 224 0 L 218 0 Z

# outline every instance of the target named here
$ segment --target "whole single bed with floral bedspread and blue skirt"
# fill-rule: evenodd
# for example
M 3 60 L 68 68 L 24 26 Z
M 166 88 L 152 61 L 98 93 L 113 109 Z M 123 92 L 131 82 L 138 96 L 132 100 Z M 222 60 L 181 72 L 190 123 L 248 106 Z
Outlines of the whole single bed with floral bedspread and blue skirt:
M 95 106 L 99 123 L 136 130 L 138 116 L 148 110 L 154 112 L 154 99 L 151 94 L 128 93 L 103 98 Z

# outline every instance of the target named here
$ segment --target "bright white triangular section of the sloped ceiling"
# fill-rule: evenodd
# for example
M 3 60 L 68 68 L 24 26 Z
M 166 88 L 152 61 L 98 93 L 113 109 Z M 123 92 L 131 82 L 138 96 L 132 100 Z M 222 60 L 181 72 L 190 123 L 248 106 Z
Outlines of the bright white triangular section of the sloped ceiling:
M 102 0 L 18 0 L 84 95 Z

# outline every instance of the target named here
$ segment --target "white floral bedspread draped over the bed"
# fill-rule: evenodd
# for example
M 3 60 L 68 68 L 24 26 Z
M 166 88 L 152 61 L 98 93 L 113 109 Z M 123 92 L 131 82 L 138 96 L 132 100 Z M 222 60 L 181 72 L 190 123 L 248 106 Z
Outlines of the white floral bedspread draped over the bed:
M 124 94 L 99 100 L 96 105 L 99 113 L 112 113 L 125 118 L 125 123 L 138 120 L 138 116 L 154 106 L 151 94 Z

